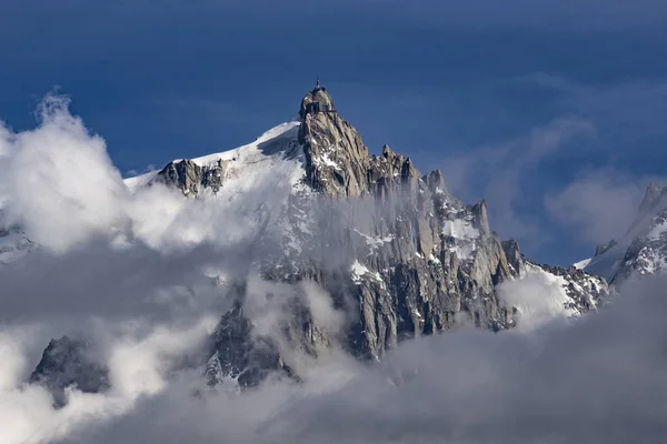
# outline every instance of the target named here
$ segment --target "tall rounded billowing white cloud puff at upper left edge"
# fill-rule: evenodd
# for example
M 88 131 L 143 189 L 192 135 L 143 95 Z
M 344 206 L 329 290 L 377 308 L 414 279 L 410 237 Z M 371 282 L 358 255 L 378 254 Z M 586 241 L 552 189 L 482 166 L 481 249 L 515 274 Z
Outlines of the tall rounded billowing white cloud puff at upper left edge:
M 127 193 L 104 141 L 67 107 L 66 99 L 48 97 L 40 127 L 10 137 L 0 180 L 8 221 L 57 252 L 119 224 Z

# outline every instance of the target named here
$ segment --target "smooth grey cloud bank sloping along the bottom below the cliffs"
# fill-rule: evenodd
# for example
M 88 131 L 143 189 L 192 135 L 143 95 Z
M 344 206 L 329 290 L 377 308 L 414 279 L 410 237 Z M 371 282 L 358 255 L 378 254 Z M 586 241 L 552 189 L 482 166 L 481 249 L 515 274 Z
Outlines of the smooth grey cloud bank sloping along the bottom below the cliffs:
M 322 364 L 312 374 L 323 385 L 313 376 L 200 400 L 173 381 L 113 427 L 91 426 L 73 442 L 653 442 L 666 432 L 664 284 L 634 284 L 599 313 L 530 334 L 462 329 L 338 379 Z M 515 290 L 538 299 L 544 283 Z

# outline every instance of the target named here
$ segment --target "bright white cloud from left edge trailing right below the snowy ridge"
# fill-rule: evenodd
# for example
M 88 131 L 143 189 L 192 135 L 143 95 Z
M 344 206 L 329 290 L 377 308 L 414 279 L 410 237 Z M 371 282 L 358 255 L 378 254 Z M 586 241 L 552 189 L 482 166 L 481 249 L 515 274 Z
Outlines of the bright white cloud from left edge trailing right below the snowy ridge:
M 131 194 L 113 167 L 103 139 L 70 114 L 67 98 L 49 95 L 32 131 L 10 132 L 0 124 L 0 198 L 9 224 L 54 253 L 94 239 L 116 245 L 139 240 L 158 251 L 217 245 L 252 239 L 263 222 L 252 209 L 265 202 L 270 180 L 248 186 L 243 200 L 183 200 L 155 184 Z M 283 173 L 282 173 L 283 174 Z

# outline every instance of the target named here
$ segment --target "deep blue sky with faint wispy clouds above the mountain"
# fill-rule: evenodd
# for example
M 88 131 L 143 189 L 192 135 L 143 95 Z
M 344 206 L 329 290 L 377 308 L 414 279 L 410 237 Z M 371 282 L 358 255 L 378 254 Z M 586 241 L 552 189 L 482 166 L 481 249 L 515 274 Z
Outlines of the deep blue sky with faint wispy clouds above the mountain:
M 541 262 L 623 234 L 667 175 L 659 0 L 2 0 L 0 41 L 0 119 L 59 87 L 123 174 L 253 140 L 319 74 L 371 151 L 487 198 Z

